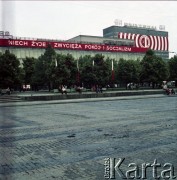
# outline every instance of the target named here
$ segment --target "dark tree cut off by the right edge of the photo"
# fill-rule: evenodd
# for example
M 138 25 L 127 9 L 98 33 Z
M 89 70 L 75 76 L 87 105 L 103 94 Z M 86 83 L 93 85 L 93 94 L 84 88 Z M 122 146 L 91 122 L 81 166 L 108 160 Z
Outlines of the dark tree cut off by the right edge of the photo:
M 172 57 L 168 61 L 168 65 L 170 72 L 169 80 L 175 81 L 175 86 L 177 86 L 177 56 Z

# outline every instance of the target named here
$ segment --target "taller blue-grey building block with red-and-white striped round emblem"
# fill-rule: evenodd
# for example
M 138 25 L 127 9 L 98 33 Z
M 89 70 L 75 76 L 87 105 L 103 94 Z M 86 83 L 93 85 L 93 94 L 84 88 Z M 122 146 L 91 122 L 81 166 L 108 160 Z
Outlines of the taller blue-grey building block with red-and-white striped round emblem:
M 168 32 L 151 26 L 110 26 L 103 29 L 103 37 L 133 40 L 135 47 L 148 48 L 163 59 L 169 58 Z

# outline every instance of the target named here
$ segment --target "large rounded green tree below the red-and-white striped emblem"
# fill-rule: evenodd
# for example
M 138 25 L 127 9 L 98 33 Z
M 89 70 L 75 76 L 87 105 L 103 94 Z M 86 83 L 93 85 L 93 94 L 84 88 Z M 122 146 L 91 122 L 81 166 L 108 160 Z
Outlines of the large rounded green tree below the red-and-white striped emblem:
M 141 81 L 154 84 L 162 83 L 169 76 L 168 66 L 161 57 L 156 56 L 151 50 L 147 51 L 141 61 Z

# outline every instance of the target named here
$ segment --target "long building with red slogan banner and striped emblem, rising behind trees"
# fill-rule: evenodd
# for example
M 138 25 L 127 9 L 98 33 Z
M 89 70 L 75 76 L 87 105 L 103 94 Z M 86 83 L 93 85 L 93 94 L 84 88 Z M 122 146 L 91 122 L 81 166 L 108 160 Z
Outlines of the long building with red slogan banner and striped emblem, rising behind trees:
M 9 33 L 0 33 L 0 52 L 8 49 L 18 59 L 38 58 L 50 44 L 58 54 L 72 54 L 75 59 L 81 56 L 102 54 L 119 59 L 142 59 L 148 49 L 152 49 L 162 58 L 169 57 L 168 32 L 152 29 L 140 29 L 127 26 L 111 26 L 103 29 L 103 37 L 79 35 L 66 41 L 13 37 Z

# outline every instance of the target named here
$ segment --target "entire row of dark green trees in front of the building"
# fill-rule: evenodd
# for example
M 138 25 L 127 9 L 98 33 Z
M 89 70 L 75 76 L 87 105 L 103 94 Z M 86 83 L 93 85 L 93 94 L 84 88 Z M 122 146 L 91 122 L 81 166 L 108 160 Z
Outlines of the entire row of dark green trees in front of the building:
M 114 62 L 114 80 L 112 79 L 112 61 Z M 0 86 L 17 87 L 24 84 L 58 88 L 59 85 L 127 84 L 129 82 L 161 83 L 163 80 L 175 80 L 177 83 L 177 56 L 168 63 L 148 50 L 143 60 L 104 59 L 102 54 L 82 56 L 78 60 L 71 54 L 56 54 L 50 45 L 38 59 L 26 57 L 23 68 L 16 56 L 8 50 L 0 54 Z M 77 73 L 80 73 L 79 82 Z M 170 72 L 170 73 L 169 73 Z M 170 76 L 169 76 L 170 74 Z M 80 84 L 78 84 L 80 83 Z

